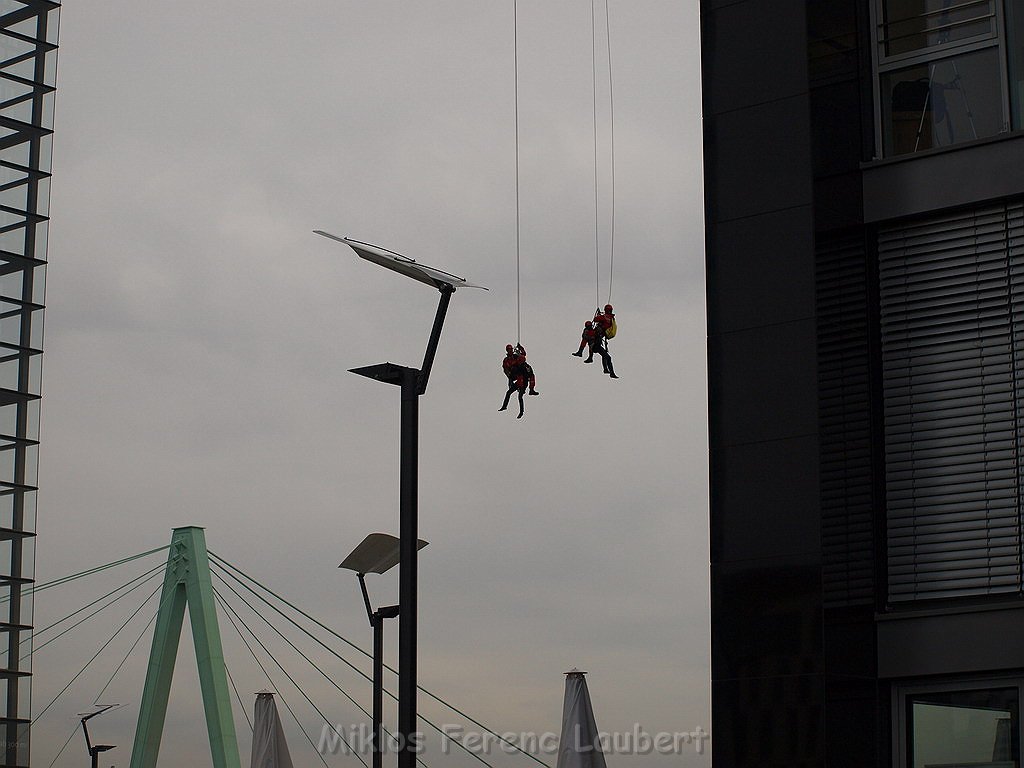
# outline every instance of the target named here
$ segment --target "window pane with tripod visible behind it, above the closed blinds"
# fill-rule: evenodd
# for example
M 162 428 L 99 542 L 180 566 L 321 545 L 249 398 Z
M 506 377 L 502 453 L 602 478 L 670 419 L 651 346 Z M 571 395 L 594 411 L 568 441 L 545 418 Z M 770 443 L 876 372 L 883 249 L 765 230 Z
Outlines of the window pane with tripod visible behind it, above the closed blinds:
M 882 76 L 887 157 L 994 136 L 1004 129 L 997 48 Z

